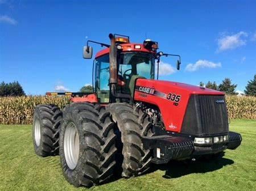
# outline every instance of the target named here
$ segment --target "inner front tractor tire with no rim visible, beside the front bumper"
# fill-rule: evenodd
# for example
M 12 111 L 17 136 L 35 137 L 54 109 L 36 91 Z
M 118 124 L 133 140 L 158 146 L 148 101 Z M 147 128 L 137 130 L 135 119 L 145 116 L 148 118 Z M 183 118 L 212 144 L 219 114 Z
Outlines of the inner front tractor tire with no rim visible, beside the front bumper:
M 152 152 L 143 148 L 142 136 L 151 137 L 152 123 L 141 109 L 126 103 L 110 104 L 110 113 L 121 131 L 122 176 L 131 177 L 145 173 L 152 158 Z

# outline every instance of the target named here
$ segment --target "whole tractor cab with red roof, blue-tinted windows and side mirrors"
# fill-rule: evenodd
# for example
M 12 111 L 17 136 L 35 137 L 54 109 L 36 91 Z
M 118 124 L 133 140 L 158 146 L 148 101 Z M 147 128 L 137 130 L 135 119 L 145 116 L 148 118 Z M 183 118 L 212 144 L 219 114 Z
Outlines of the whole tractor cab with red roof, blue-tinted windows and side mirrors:
M 155 60 L 159 64 L 159 57 L 163 55 L 162 52 L 156 52 L 158 49 L 157 42 L 147 39 L 144 40 L 143 44 L 130 43 L 129 36 L 114 34 L 112 36 L 112 48 L 110 45 L 95 41 L 88 41 L 88 43 L 106 46 L 105 49 L 96 54 L 93 62 L 94 92 L 101 104 L 132 99 L 135 81 L 138 78 L 155 79 Z M 92 58 L 92 47 L 88 43 L 84 47 L 84 58 Z M 113 56 L 114 65 L 110 64 L 111 56 Z M 111 68 L 114 70 L 111 71 Z M 111 93 L 113 88 L 119 96 Z

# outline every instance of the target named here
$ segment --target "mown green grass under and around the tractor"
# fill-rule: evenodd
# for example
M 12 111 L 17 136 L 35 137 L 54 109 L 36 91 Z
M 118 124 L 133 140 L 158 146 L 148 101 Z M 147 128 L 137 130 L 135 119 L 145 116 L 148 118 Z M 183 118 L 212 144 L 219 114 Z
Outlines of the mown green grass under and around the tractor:
M 214 162 L 171 162 L 155 171 L 118 179 L 90 190 L 256 190 L 256 121 L 232 120 L 242 145 Z M 31 125 L 0 125 L 0 190 L 87 190 L 65 181 L 59 156 L 34 154 Z

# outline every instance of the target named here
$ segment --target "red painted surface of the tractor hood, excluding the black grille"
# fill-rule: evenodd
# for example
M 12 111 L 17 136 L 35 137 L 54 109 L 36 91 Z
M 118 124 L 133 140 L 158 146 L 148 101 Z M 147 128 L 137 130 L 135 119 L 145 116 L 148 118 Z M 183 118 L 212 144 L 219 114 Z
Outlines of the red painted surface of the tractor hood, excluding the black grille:
M 192 86 L 185 83 L 168 82 L 164 80 L 148 80 L 138 79 L 136 86 L 155 88 L 155 91 L 163 92 L 168 95 L 181 95 L 179 105 L 175 106 L 173 101 L 166 97 L 158 97 L 155 95 L 144 94 L 143 92 L 135 91 L 134 100 L 144 101 L 150 104 L 157 105 L 163 117 L 164 126 L 168 131 L 180 132 L 185 116 L 185 111 L 188 105 L 189 97 L 192 94 L 197 95 L 224 95 L 223 92 L 211 90 L 208 88 L 202 89 L 198 86 Z M 146 97 L 143 97 L 145 96 Z

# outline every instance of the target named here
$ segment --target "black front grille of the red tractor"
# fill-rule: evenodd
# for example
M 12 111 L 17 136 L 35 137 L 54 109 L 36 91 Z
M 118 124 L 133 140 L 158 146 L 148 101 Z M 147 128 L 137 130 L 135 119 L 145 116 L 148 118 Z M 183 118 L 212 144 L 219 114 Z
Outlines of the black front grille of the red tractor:
M 183 120 L 182 133 L 208 135 L 228 132 L 225 97 L 192 95 Z

